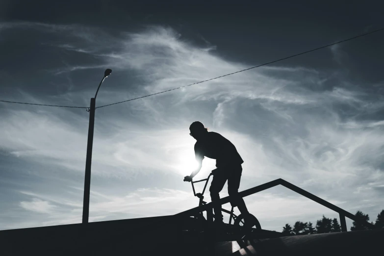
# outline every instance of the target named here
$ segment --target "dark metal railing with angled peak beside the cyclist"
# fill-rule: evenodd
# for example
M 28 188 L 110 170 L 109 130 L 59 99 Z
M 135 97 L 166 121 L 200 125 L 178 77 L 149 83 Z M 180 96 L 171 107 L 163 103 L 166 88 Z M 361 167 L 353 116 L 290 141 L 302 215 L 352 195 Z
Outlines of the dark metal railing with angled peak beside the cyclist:
M 301 189 L 300 187 L 295 186 L 292 183 L 289 183 L 288 181 L 285 181 L 284 179 L 275 179 L 273 181 L 264 183 L 262 185 L 241 191 L 241 192 L 239 192 L 239 196 L 241 196 L 243 198 L 243 197 L 258 193 L 260 191 L 269 189 L 269 188 L 277 186 L 277 185 L 283 185 L 284 187 L 289 188 L 290 190 L 295 191 L 296 193 L 299 193 L 300 195 L 305 196 L 305 197 L 309 198 L 310 200 L 315 201 L 316 203 L 319 203 L 320 205 L 324 205 L 327 208 L 332 209 L 335 212 L 337 212 L 339 214 L 339 218 L 340 218 L 341 231 L 344 231 L 344 232 L 347 231 L 347 225 L 345 222 L 345 217 L 348 217 L 351 220 L 354 220 L 355 222 L 360 223 L 361 225 L 363 225 L 367 228 L 372 228 L 372 229 L 375 228 L 375 226 L 373 224 L 366 222 L 364 220 L 361 220 L 356 215 L 353 215 L 352 213 L 350 213 L 350 212 L 348 212 L 348 211 L 346 211 L 340 207 L 337 207 L 336 205 L 333 205 L 333 204 L 325 201 L 324 199 L 321 199 L 321 198 L 307 192 L 306 190 Z M 227 196 L 227 197 L 224 197 L 220 200 L 210 202 L 208 204 L 201 205 L 201 206 L 180 212 L 178 214 L 175 214 L 175 217 L 177 217 L 177 218 L 179 218 L 179 220 L 181 220 L 181 218 L 183 218 L 183 217 L 194 216 L 194 215 L 198 214 L 199 212 L 206 211 L 207 221 L 208 221 L 208 232 L 212 232 L 213 231 L 213 223 L 212 222 L 213 222 L 213 207 L 214 207 L 214 205 L 224 205 L 224 204 L 227 204 L 229 202 L 230 202 L 230 196 Z M 178 231 L 180 232 L 181 230 L 178 230 Z

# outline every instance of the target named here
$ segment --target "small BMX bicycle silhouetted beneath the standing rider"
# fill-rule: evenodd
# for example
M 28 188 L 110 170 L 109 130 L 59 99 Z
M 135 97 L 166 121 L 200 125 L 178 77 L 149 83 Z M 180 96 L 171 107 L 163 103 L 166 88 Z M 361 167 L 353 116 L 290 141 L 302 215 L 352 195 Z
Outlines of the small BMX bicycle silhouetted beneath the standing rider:
M 216 169 L 215 169 L 216 170 Z M 205 188 L 206 188 L 206 185 L 208 184 L 208 181 L 209 181 L 209 178 L 213 175 L 212 173 L 215 171 L 215 170 L 212 170 L 211 173 L 208 175 L 208 178 L 206 179 L 200 179 L 200 180 L 197 180 L 197 181 L 191 181 L 191 184 L 192 184 L 192 189 L 193 189 L 193 194 L 199 198 L 199 206 L 201 205 L 205 205 L 207 204 L 205 201 L 204 201 L 204 192 L 205 192 Z M 184 180 L 185 181 L 185 180 Z M 198 183 L 198 182 L 201 182 L 201 181 L 205 181 L 205 186 L 204 186 L 204 189 L 203 189 L 203 192 L 202 193 L 196 193 L 195 191 L 195 186 L 193 185 L 194 183 Z M 221 208 L 221 211 L 222 212 L 225 212 L 225 213 L 228 213 L 230 214 L 230 220 L 229 220 L 229 225 L 231 225 L 231 222 L 232 222 L 232 219 L 233 219 L 233 226 L 230 226 L 232 227 L 232 233 L 241 233 L 242 231 L 242 227 L 244 226 L 244 216 L 242 216 L 242 214 L 239 214 L 239 215 L 236 215 L 233 213 L 233 207 L 231 208 L 231 210 L 227 210 L 227 209 L 224 209 L 224 208 Z M 260 226 L 260 223 L 259 221 L 257 220 L 257 218 L 253 215 L 253 214 L 250 214 L 252 219 L 253 219 L 253 225 L 251 226 L 252 227 L 252 231 L 258 231 L 258 230 L 261 230 L 261 226 Z M 198 232 L 201 232 L 201 231 L 204 231 L 204 227 L 206 226 L 206 219 L 203 215 L 203 212 L 199 212 L 198 215 L 195 215 L 193 216 L 196 220 L 197 220 L 197 225 L 194 226 L 194 230 L 195 231 L 198 231 Z M 215 217 L 215 215 L 213 214 L 213 217 Z M 244 236 L 243 236 L 244 238 Z

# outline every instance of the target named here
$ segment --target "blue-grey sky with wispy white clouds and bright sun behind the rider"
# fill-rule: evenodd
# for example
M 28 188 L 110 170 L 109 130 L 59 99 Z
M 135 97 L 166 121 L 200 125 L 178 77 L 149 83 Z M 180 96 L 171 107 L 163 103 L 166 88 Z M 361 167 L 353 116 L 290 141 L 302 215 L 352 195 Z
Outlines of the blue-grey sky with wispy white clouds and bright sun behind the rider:
M 383 5 L 1 1 L 0 100 L 83 108 L 0 102 L 0 230 L 81 223 L 85 107 L 106 68 L 97 107 L 383 28 Z M 201 121 L 244 159 L 239 191 L 281 178 L 374 222 L 384 209 L 383 44 L 381 31 L 97 108 L 89 221 L 198 206 L 183 178 L 195 165 L 189 125 Z M 205 158 L 195 179 L 214 168 Z M 244 200 L 266 230 L 339 218 L 282 186 Z

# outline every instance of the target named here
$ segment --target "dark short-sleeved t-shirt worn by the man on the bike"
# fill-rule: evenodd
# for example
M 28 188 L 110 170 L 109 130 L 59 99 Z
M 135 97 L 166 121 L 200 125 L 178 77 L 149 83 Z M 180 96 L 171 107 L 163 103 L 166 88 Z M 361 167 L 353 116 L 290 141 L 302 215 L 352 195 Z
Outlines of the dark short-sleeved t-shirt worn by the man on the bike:
M 228 165 L 241 165 L 244 163 L 235 146 L 217 132 L 209 131 L 203 140 L 195 144 L 196 159 L 204 159 L 204 156 L 216 159 L 216 167 Z

